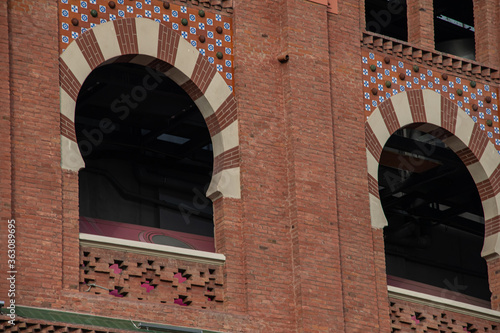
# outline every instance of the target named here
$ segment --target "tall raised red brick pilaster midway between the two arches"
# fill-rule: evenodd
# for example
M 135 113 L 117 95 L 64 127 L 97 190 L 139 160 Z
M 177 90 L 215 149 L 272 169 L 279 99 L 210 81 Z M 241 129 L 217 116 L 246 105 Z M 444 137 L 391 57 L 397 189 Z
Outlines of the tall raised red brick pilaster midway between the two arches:
M 282 13 L 281 47 L 290 56 L 282 66 L 283 139 L 297 328 L 341 330 L 334 133 L 327 75 L 331 69 L 328 20 L 335 15 L 327 14 L 325 6 L 302 1 L 287 1 Z

